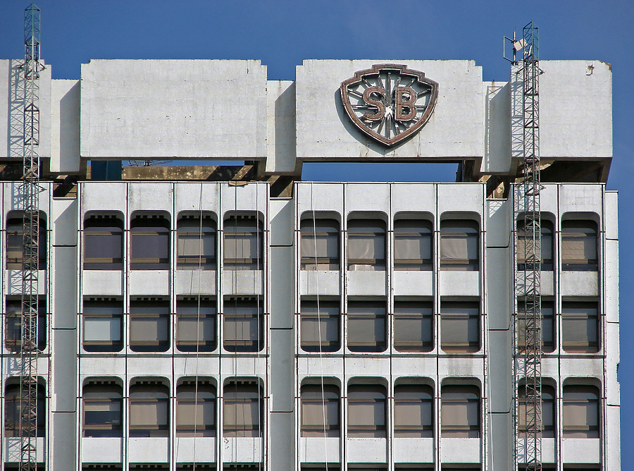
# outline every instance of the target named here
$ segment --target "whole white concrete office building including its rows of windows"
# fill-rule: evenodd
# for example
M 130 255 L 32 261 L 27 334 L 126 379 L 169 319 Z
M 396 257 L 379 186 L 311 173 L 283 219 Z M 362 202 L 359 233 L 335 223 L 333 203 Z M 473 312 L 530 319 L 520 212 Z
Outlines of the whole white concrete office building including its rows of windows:
M 342 102 L 340 84 L 376 64 L 438 86 L 428 121 L 393 146 Z M 4 470 L 19 460 L 18 65 L 0 61 Z M 611 68 L 540 67 L 543 468 L 619 470 Z M 517 71 L 484 82 L 473 61 L 311 60 L 276 81 L 259 61 L 97 60 L 53 80 L 46 66 L 42 469 L 521 470 Z M 244 166 L 94 171 L 135 159 Z M 308 182 L 304 161 L 459 173 Z

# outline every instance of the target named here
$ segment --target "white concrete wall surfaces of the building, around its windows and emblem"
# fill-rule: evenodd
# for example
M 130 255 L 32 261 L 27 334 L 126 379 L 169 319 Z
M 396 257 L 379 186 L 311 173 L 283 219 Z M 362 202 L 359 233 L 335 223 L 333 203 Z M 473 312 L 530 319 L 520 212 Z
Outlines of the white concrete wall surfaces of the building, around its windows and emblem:
M 440 83 L 437 108 L 428 124 L 390 149 L 353 128 L 337 99 L 342 80 L 385 62 L 406 63 Z M 542 63 L 542 157 L 609 161 L 609 66 L 599 61 Z M 11 97 L 11 71 L 11 61 L 0 61 L 0 92 L 6 90 L 0 100 Z M 152 80 L 140 80 L 148 75 Z M 268 80 L 266 66 L 259 61 L 91 61 L 82 65 L 81 80 L 51 80 L 49 67 L 42 84 L 42 135 L 46 136 L 42 156 L 50 158 L 51 170 L 59 173 L 77 172 L 90 159 L 255 160 L 272 175 L 297 175 L 303 161 L 347 159 L 471 159 L 483 173 L 502 175 L 513 173 L 517 164 L 511 141 L 511 87 L 516 80 L 511 76 L 509 82 L 483 82 L 481 68 L 473 61 L 311 60 L 297 66 L 292 82 Z M 10 109 L 10 101 L 0 101 L 0 109 Z M 587 119 L 589 109 L 595 114 L 593 120 Z M 0 149 L 0 159 L 15 159 L 11 114 L 0 113 L 0 129 L 5 127 L 8 145 Z M 0 422 L 4 424 L 11 405 L 7 391 L 15 383 L 19 357 L 11 349 L 8 302 L 19 293 L 20 274 L 6 269 L 6 263 L 12 231 L 8 219 L 19 209 L 20 182 L 0 185 L 0 398 L 4 405 Z M 46 262 L 39 290 L 47 313 L 46 344 L 38 360 L 45 391 L 38 456 L 46 471 L 180 471 L 193 470 L 187 466 L 194 463 L 217 471 L 237 469 L 232 465 L 259 471 L 317 471 L 325 470 L 326 464 L 331 471 L 521 469 L 513 359 L 518 310 L 515 187 L 508 197 L 493 199 L 487 198 L 485 183 L 298 181 L 290 198 L 272 197 L 271 185 L 265 182 L 81 181 L 77 197 L 54 197 L 54 185 L 42 185 Z M 552 227 L 553 247 L 552 267 L 542 271 L 542 297 L 553 310 L 552 351 L 543 356 L 542 381 L 552 388 L 554 403 L 552 437 L 542 440 L 544 469 L 619 470 L 617 194 L 603 183 L 545 183 L 541 212 Z M 117 269 L 85 269 L 87 221 L 100 216 L 121 224 L 122 260 Z M 168 256 L 161 269 L 132 265 L 137 216 L 161 216 L 166 222 Z M 213 267 L 179 267 L 179 224 L 185 216 L 213 221 Z M 233 216 L 251 216 L 261 224 L 255 267 L 225 267 L 230 252 L 225 233 L 237 224 L 230 222 Z M 302 221 L 319 219 L 338 226 L 337 269 L 302 268 Z M 397 221 L 403 219 L 425 221 L 430 228 L 430 266 L 425 269 L 395 267 L 394 233 Z M 348 267 L 349 233 L 359 220 L 385 226 L 384 267 Z M 441 269 L 441 229 L 447 220 L 470 221 L 477 227 L 478 257 L 470 269 Z M 564 267 L 567 221 L 594 224 L 596 269 Z M 120 348 L 111 351 L 91 350 L 85 343 L 85 305 L 103 300 L 122 307 Z M 154 351 L 135 348 L 133 331 L 138 331 L 132 326 L 132 311 L 139 300 L 168 306 L 166 343 Z M 213 341 L 213 348 L 196 353 L 179 347 L 177 312 L 183 300 L 196 300 L 199 310 L 201 302 L 213 305 L 217 314 L 212 338 L 207 339 Z M 253 351 L 233 351 L 228 346 L 235 332 L 225 316 L 233 303 L 237 306 L 242 300 L 251 300 L 261 311 Z M 303 302 L 338 306 L 337 317 L 328 324 L 335 329 L 338 347 L 321 354 L 304 348 Z M 359 351 L 350 341 L 354 317 L 350 305 L 359 302 L 373 302 L 385 311 L 383 327 L 377 327 L 385 329 L 385 345 L 376 351 Z M 407 352 L 397 345 L 397 307 L 403 302 L 430 307 L 425 351 Z M 444 348 L 445 302 L 475 306 L 475 322 L 469 329 L 476 326 L 472 333 L 477 346 L 471 350 L 456 353 Z M 566 348 L 571 324 L 566 324 L 564 311 L 572 303 L 597 306 L 596 338 L 591 339 L 596 351 Z M 593 329 L 590 324 L 586 327 Z M 206 436 L 177 430 L 179 389 L 194 379 L 206 381 L 215 391 Z M 138 436 L 130 426 L 138 420 L 132 417 L 137 413 L 132 412 L 132 403 L 133 389 L 139 384 L 168 391 L 164 402 L 168 418 L 161 434 Z M 231 388 L 238 384 L 261 391 L 256 399 L 261 433 L 256 436 L 225 432 Z M 120 436 L 85 436 L 86 386 L 90 385 L 120 391 Z M 306 385 L 338 391 L 337 427 L 329 436 L 303 431 L 302 386 Z M 411 385 L 430 391 L 428 436 L 404 437 L 397 432 L 397 389 Z M 356 386 L 384 391 L 385 423 L 377 436 L 350 432 L 354 408 L 350 397 Z M 449 412 L 442 393 L 446 386 L 478 391 L 473 409 L 477 412 L 468 418 L 475 420 L 468 432 L 473 436 L 447 436 Z M 592 433 L 586 438 L 566 429 L 568 386 L 592 386 L 598 391 L 598 423 L 588 424 Z M 6 427 L 1 434 L 0 470 L 11 470 L 19 456 L 18 439 Z

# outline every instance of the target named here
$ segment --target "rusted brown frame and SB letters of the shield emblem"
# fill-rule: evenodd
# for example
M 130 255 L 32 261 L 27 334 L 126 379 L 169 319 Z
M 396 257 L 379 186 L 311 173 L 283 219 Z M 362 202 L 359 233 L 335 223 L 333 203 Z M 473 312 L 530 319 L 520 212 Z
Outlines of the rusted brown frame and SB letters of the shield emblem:
M 397 84 L 399 84 L 400 80 L 402 79 L 405 79 L 405 80 L 409 79 L 409 85 L 406 85 L 404 87 L 397 86 L 397 87 L 394 87 L 394 90 L 390 90 L 388 87 L 387 90 L 384 90 L 382 99 L 372 99 L 371 95 L 377 92 L 377 90 L 375 89 L 377 89 L 378 87 L 371 86 L 371 83 L 368 82 L 367 78 L 371 76 L 378 76 L 378 80 L 380 80 L 380 73 L 383 71 L 394 71 L 394 73 L 397 73 L 399 78 L 399 82 L 397 82 Z M 394 129 L 397 130 L 399 127 L 402 127 L 404 128 L 404 130 L 402 130 L 400 133 L 395 134 L 393 137 L 390 137 L 389 133 L 387 136 L 381 135 L 380 133 L 373 130 L 370 126 L 368 126 L 367 123 L 364 123 L 361 120 L 361 118 L 359 118 L 359 116 L 357 116 L 357 114 L 354 112 L 354 106 L 350 102 L 349 94 L 350 94 L 350 87 L 354 87 L 354 85 L 357 85 L 360 82 L 363 82 L 363 84 L 366 85 L 365 92 L 363 92 L 363 100 L 366 103 L 366 105 L 363 105 L 363 106 L 366 106 L 366 108 L 368 108 L 369 110 L 375 111 L 375 114 L 373 115 L 366 113 L 366 115 L 364 116 L 368 116 L 369 118 L 372 118 L 375 120 L 378 119 L 378 114 L 381 112 L 382 108 L 380 107 L 381 106 L 380 104 L 375 105 L 375 103 L 381 102 L 381 104 L 383 104 L 385 108 L 389 107 L 389 109 L 392 110 L 391 111 L 392 115 L 401 114 L 402 118 L 409 118 L 409 119 L 403 119 L 402 121 L 400 121 L 399 119 L 396 119 L 395 116 L 392 117 L 392 121 L 394 121 Z M 414 104 L 416 100 L 414 100 L 414 102 L 404 101 L 404 102 L 398 102 L 395 104 L 394 97 L 392 95 L 396 94 L 398 97 L 397 100 L 401 100 L 402 97 L 404 96 L 403 90 L 404 89 L 413 90 L 411 88 L 411 85 L 414 85 L 414 84 L 418 84 L 419 86 L 422 86 L 428 89 L 430 94 L 430 99 L 428 101 L 428 104 L 425 106 L 423 114 L 414 123 L 409 123 L 413 119 L 411 118 L 411 112 L 412 112 L 411 104 Z M 403 64 L 394 64 L 394 63 L 375 64 L 374 66 L 372 66 L 372 68 L 368 68 L 364 71 L 359 71 L 354 73 L 354 77 L 341 82 L 340 91 L 341 91 L 341 99 L 344 104 L 344 108 L 346 109 L 346 113 L 348 117 L 350 118 L 350 120 L 352 121 L 352 123 L 354 123 L 354 125 L 357 128 L 359 128 L 359 130 L 361 130 L 363 133 L 365 133 L 366 135 L 372 137 L 373 139 L 377 140 L 378 142 L 381 142 L 383 145 L 386 145 L 388 147 L 394 144 L 397 144 L 398 142 L 401 142 L 402 140 L 410 137 L 414 133 L 418 132 L 418 130 L 420 130 L 423 126 L 425 126 L 425 124 L 429 121 L 429 118 L 431 117 L 434 111 L 434 107 L 438 99 L 438 83 L 437 82 L 435 82 L 434 80 L 425 78 L 425 73 L 421 71 L 414 71 L 407 68 L 407 66 Z M 409 91 L 406 90 L 405 93 L 409 93 Z M 359 93 L 357 92 L 357 94 Z M 378 93 L 375 93 L 375 95 L 376 94 Z M 412 95 L 410 94 L 409 99 L 411 100 L 411 98 L 412 98 Z M 397 109 L 397 106 L 400 106 L 400 108 Z M 408 114 L 404 114 L 404 115 L 402 114 L 404 108 L 409 109 Z M 415 115 L 416 114 L 417 113 L 415 113 Z

